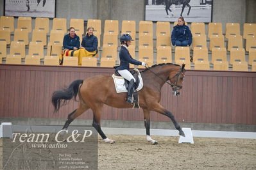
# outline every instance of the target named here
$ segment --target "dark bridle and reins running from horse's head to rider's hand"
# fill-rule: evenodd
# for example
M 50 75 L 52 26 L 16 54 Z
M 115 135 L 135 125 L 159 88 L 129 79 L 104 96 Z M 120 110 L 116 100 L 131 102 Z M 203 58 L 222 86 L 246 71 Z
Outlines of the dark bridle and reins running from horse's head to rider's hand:
M 148 64 L 146 64 L 145 67 L 148 68 Z M 160 77 L 159 75 L 157 75 L 156 73 L 154 73 L 151 69 L 148 68 L 148 70 L 149 70 L 150 72 L 152 72 L 153 74 L 155 74 L 155 76 L 157 76 L 157 77 L 159 77 L 160 79 L 162 79 L 162 81 L 164 81 L 164 82 L 166 82 L 167 84 L 169 84 L 169 85 L 171 86 L 171 88 L 174 88 L 173 90 L 175 91 L 175 94 L 179 94 L 179 93 L 177 92 L 177 90 L 182 89 L 182 86 L 180 86 L 180 85 L 177 84 L 177 83 L 178 83 L 178 79 L 180 79 L 180 75 L 183 75 L 183 77 L 185 77 L 184 73 L 182 72 L 182 67 L 180 67 L 180 71 L 177 72 L 177 73 L 175 74 L 175 76 L 171 77 L 171 79 L 174 79 L 174 78 L 175 78 L 175 81 L 174 81 L 174 82 L 171 82 L 171 79 L 170 79 L 170 82 L 171 82 L 171 83 L 167 82 L 168 80 L 164 80 L 162 77 Z

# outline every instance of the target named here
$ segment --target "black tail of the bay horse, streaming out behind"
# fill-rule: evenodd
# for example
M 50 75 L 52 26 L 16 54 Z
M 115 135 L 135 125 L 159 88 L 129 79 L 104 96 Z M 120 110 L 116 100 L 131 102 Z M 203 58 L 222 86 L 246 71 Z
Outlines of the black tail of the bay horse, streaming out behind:
M 83 83 L 83 80 L 76 80 L 73 81 L 69 87 L 64 88 L 62 90 L 57 90 L 53 92 L 53 95 L 51 97 L 51 103 L 55 107 L 55 112 L 58 112 L 60 109 L 60 104 L 63 101 L 62 105 L 65 105 L 67 100 L 71 100 L 71 98 L 74 97 L 74 100 L 76 100 L 76 96 L 78 95 L 79 86 Z

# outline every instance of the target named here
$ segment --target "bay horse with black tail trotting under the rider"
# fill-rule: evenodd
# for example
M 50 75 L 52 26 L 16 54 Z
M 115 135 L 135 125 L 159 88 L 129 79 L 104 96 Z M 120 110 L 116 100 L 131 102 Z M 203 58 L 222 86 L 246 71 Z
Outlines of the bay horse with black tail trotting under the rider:
M 173 121 L 175 128 L 179 131 L 179 135 L 185 136 L 182 128 L 175 120 L 175 117 L 170 111 L 167 111 L 160 105 L 161 88 L 167 82 L 171 85 L 175 95 L 179 95 L 179 90 L 182 89 L 184 79 L 185 65 L 175 65 L 172 63 L 162 63 L 146 68 L 141 72 L 143 80 L 143 88 L 138 91 L 139 105 L 144 112 L 144 126 L 146 128 L 146 139 L 151 144 L 158 144 L 157 141 L 151 139 L 150 129 L 150 111 L 164 114 Z M 73 81 L 69 87 L 53 92 L 51 102 L 55 107 L 55 112 L 60 109 L 61 103 L 66 100 L 71 100 L 79 96 L 79 107 L 67 116 L 67 121 L 62 129 L 67 130 L 69 124 L 83 112 L 92 109 L 93 123 L 99 135 L 105 143 L 115 143 L 114 140 L 108 139 L 101 130 L 101 112 L 103 105 L 109 105 L 116 108 L 132 108 L 133 105 L 125 101 L 126 93 L 116 93 L 114 80 L 108 75 L 96 75 L 88 79 Z

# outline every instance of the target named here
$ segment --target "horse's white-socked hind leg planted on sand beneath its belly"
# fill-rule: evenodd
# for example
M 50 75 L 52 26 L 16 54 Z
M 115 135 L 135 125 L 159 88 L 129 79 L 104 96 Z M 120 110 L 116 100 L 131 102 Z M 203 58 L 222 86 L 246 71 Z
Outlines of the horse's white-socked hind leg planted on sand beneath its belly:
M 94 104 L 94 106 L 91 107 L 91 109 L 93 111 L 92 126 L 97 130 L 99 135 L 101 135 L 105 143 L 115 143 L 114 140 L 108 139 L 104 132 L 101 130 L 101 111 L 103 109 L 103 104 Z

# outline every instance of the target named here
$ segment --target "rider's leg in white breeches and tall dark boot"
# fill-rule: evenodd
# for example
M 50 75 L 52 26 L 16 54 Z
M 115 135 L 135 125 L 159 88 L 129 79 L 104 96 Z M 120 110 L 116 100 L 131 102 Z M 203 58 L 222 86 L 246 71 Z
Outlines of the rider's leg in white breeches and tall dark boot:
M 118 73 L 120 75 L 122 75 L 122 77 L 124 77 L 124 79 L 130 81 L 129 86 L 128 86 L 128 95 L 126 98 L 126 102 L 133 103 L 132 95 L 133 95 L 133 91 L 135 90 L 135 82 L 136 81 L 135 81 L 132 73 L 130 73 L 128 70 L 118 70 Z

